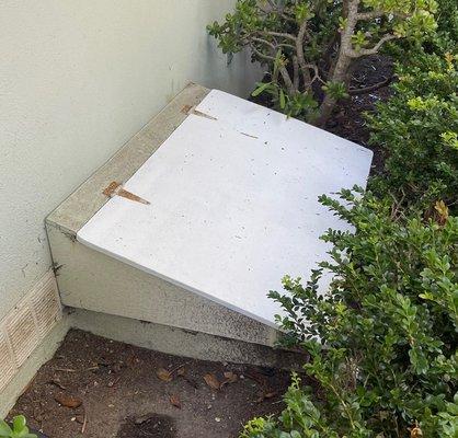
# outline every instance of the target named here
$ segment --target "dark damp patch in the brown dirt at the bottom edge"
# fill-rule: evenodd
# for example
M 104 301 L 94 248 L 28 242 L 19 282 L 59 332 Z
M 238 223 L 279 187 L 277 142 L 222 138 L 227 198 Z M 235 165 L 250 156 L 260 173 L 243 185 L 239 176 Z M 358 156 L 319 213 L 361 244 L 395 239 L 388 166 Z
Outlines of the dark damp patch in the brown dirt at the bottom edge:
M 116 438 L 174 438 L 175 424 L 168 415 L 142 415 L 127 418 Z

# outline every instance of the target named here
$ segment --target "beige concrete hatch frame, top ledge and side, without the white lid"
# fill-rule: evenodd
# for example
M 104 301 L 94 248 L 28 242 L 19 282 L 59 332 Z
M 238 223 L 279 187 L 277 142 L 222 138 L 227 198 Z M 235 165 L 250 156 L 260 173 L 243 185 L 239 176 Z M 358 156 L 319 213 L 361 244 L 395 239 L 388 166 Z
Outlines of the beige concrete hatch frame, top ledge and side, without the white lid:
M 72 308 L 273 346 L 278 332 L 272 325 L 92 250 L 77 239 L 108 200 L 106 187 L 124 184 L 135 174 L 208 92 L 197 84 L 186 87 L 46 219 L 61 301 Z

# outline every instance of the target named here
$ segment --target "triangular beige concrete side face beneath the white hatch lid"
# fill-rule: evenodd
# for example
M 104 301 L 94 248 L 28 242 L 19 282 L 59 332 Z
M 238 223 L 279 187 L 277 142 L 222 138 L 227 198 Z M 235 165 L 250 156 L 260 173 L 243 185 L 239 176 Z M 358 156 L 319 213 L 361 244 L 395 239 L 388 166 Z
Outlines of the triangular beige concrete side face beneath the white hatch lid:
M 274 328 L 91 250 L 51 224 L 48 237 L 65 306 L 263 345 L 276 341 Z

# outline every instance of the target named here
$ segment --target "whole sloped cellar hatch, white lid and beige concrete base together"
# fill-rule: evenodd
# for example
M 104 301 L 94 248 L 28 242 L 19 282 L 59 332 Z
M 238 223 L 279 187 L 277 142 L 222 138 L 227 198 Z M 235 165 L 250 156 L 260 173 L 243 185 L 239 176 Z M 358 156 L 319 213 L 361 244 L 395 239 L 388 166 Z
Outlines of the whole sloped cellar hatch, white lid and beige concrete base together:
M 47 218 L 62 303 L 272 346 L 280 309 L 266 293 L 307 278 L 329 250 L 319 235 L 346 228 L 318 196 L 365 186 L 370 162 L 190 84 Z

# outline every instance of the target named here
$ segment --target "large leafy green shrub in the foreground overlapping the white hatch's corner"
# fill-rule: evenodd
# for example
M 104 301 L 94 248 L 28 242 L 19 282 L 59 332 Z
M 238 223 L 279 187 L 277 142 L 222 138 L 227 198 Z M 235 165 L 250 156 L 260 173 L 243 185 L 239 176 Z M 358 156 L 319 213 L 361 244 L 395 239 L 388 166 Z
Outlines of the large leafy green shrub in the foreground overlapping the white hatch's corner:
M 331 261 L 271 292 L 320 395 L 295 377 L 279 418 L 255 418 L 242 437 L 457 437 L 458 218 L 341 198 L 322 203 L 356 232 L 329 230 Z M 319 295 L 323 270 L 333 279 Z

